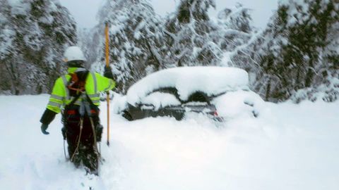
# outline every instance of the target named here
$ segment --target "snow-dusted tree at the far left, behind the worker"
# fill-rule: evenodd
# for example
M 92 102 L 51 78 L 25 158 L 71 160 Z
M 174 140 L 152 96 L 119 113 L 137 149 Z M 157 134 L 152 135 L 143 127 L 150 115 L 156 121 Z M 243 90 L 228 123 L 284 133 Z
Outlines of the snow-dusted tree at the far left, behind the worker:
M 59 1 L 0 0 L 0 93 L 50 90 L 76 25 Z

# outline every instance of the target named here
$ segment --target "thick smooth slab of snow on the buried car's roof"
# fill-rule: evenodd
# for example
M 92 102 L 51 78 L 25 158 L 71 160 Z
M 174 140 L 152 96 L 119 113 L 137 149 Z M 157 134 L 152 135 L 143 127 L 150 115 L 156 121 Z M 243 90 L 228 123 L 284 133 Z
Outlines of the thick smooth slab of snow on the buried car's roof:
M 240 68 L 170 68 L 154 72 L 133 84 L 127 91 L 127 101 L 135 105 L 151 92 L 166 87 L 175 87 L 179 98 L 186 101 L 195 91 L 203 91 L 212 96 L 225 91 L 249 89 L 248 82 L 247 72 Z

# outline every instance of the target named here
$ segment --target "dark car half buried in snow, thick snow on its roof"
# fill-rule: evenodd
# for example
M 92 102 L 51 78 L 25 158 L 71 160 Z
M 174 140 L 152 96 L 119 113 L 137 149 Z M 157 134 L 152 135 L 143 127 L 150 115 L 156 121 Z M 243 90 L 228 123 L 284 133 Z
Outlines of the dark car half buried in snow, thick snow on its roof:
M 232 101 L 227 99 L 229 94 L 240 93 L 242 106 L 256 117 L 258 113 L 254 110 L 253 101 L 246 99 L 248 94 L 254 94 L 249 90 L 248 80 L 247 72 L 239 68 L 183 67 L 160 70 L 129 88 L 126 108 L 121 112 L 127 120 L 157 116 L 182 120 L 186 113 L 203 113 L 213 120 L 222 121 L 222 117 L 228 117 L 230 113 L 223 102 Z M 239 101 L 237 97 L 234 100 Z M 219 109 L 226 114 L 218 114 Z M 243 110 L 239 106 L 235 109 Z

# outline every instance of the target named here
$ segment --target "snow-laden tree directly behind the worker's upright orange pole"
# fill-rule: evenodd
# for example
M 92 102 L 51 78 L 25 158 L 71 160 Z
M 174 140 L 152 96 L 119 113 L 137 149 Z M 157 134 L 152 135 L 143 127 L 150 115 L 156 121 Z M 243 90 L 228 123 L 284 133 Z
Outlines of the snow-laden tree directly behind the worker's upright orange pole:
M 158 55 L 163 33 L 161 20 L 147 0 L 107 1 L 99 11 L 101 22 L 96 26 L 99 37 L 97 61 L 93 69 L 102 70 L 105 65 L 105 22 L 109 23 L 109 61 L 117 77 L 117 87 L 126 87 L 162 67 Z

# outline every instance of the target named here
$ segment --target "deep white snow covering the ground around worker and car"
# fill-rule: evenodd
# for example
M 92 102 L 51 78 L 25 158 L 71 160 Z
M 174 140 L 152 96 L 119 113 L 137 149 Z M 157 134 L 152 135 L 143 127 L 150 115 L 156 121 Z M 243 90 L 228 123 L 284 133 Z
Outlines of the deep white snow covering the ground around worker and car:
M 339 189 L 339 101 L 263 103 L 258 118 L 218 127 L 203 115 L 112 113 L 95 177 L 65 161 L 60 115 L 40 132 L 48 97 L 0 96 L 0 189 Z M 105 112 L 103 103 L 103 125 Z

